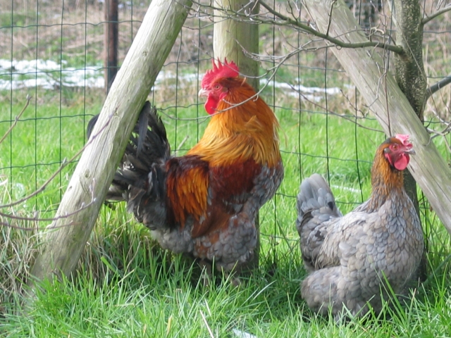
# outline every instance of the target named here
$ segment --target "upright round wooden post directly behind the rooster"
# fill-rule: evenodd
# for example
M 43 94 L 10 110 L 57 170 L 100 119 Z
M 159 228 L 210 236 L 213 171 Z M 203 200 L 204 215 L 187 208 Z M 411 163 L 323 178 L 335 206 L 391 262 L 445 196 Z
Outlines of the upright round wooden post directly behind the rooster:
M 247 77 L 247 82 L 259 90 L 259 63 L 253 58 L 249 58 L 248 53 L 259 53 L 259 25 L 247 23 L 240 18 L 225 18 L 226 15 L 233 15 L 233 11 L 240 13 L 259 13 L 258 1 L 252 0 L 217 0 L 216 6 L 223 8 L 223 11 L 214 11 L 214 33 L 213 49 L 214 57 L 228 61 L 235 61 L 240 68 L 240 75 Z M 244 51 L 243 51 L 244 50 Z M 254 251 L 254 258 L 247 265 L 249 270 L 258 268 L 260 253 L 260 226 L 259 215 L 255 220 L 257 227 L 257 246 Z

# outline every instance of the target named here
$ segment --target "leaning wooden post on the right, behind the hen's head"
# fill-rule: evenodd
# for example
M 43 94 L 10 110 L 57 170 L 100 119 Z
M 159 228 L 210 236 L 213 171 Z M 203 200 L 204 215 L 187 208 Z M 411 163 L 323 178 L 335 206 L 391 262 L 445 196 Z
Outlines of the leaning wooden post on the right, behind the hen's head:
M 342 0 L 304 0 L 304 4 L 320 32 L 326 32 L 329 27 L 330 36 L 341 37 L 345 42 L 368 41 L 362 31 L 355 29 L 358 24 Z M 368 102 L 383 130 L 387 134 L 411 136 L 416 156 L 411 157 L 409 171 L 451 234 L 451 170 L 395 78 L 385 72 L 381 56 L 373 48 L 333 49 L 333 53 Z

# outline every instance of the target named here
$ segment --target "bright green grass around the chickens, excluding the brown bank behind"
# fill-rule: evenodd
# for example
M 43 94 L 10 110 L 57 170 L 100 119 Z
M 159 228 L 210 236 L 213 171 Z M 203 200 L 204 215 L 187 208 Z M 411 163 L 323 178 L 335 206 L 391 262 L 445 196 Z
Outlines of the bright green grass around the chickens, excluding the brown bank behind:
M 270 94 L 268 89 L 262 96 L 272 102 Z M 89 120 L 85 114 L 100 110 L 101 95 L 89 95 L 85 102 L 77 93 L 63 91 L 61 106 L 56 96 L 38 92 L 38 101 L 30 104 L 11 137 L 0 144 L 1 166 L 14 166 L 1 173 L 2 180 L 8 178 L 2 186 L 3 201 L 30 194 L 63 158 L 72 157 L 83 146 Z M 11 119 L 7 93 L 1 97 L 1 120 Z M 235 329 L 257 337 L 450 337 L 450 237 L 426 201 L 421 212 L 429 241 L 430 277 L 406 305 L 387 306 L 381 315 L 370 313 L 338 325 L 333 318 L 319 318 L 309 311 L 299 292 L 305 275 L 295 230 L 299 183 L 312 173 L 328 174 L 338 205 L 347 213 L 368 198 L 371 161 L 385 137 L 356 127 L 351 115 L 351 120 L 325 115 L 307 101 L 299 112 L 296 102 L 283 92 L 278 92 L 278 98 L 285 102 L 285 108 L 275 109 L 281 124 L 285 179 L 276 197 L 261 208 L 260 268 L 252 277 L 232 287 L 219 276 L 218 283 L 204 287 L 197 266 L 161 251 L 123 206 L 114 211 L 102 208 L 73 280 L 39 283 L 35 301 L 25 306 L 23 281 L 37 249 L 33 236 L 39 232 L 2 227 L 0 277 L 5 282 L 0 293 L 0 332 L 9 337 L 239 337 Z M 183 154 L 206 127 L 203 107 L 175 111 L 171 101 L 158 106 L 163 108 L 173 150 Z M 12 118 L 22 107 L 22 96 L 15 93 Z M 60 115 L 61 119 L 51 118 Z M 359 123 L 380 129 L 371 118 Z M 9 125 L 0 123 L 0 135 Z M 444 144 L 436 142 L 445 152 Z M 30 165 L 35 161 L 44 165 Z M 36 199 L 8 212 L 53 215 L 74 165 L 65 168 Z M 23 186 L 20 196 L 18 184 Z M 39 227 L 47 224 L 39 223 Z

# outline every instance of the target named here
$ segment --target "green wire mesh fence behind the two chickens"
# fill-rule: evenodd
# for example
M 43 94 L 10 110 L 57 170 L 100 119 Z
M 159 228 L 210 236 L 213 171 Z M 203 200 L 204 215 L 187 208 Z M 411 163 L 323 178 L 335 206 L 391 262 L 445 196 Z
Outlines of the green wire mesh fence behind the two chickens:
M 309 23 L 300 3 L 287 4 L 272 1 L 270 6 L 280 13 L 295 11 L 301 22 Z M 149 1 L 132 0 L 119 4 L 120 63 L 148 5 Z M 395 33 L 388 4 L 349 5 L 367 34 L 384 30 L 390 37 Z M 104 6 L 103 1 L 87 0 L 11 0 L 1 6 L 0 134 L 14 126 L 0 144 L 4 203 L 23 199 L 46 184 L 36 196 L 9 208 L 10 213 L 51 217 L 61 200 L 77 163 L 76 157 L 68 160 L 85 144 L 85 125 L 99 113 L 106 96 Z M 426 13 L 435 6 L 434 1 L 423 3 Z M 185 154 L 208 123 L 197 92 L 214 56 L 214 23 L 208 2 L 193 8 L 149 96 L 160 109 L 175 154 Z M 280 120 L 285 165 L 282 187 L 261 210 L 262 242 L 270 260 L 280 255 L 299 259 L 299 253 L 293 253 L 297 250 L 295 196 L 302 178 L 326 175 L 342 211 L 351 210 L 369 196 L 371 161 L 385 134 L 333 56 L 333 47 L 302 30 L 277 25 L 271 13 L 261 11 L 268 21 L 259 27 L 260 95 Z M 425 68 L 431 84 L 451 73 L 450 22 L 444 13 L 424 32 Z M 387 67 L 392 67 L 390 54 L 380 52 Z M 27 95 L 30 104 L 16 119 Z M 428 101 L 425 116 L 429 127 L 447 128 L 450 89 Z M 449 160 L 445 142 L 435 142 Z M 61 165 L 63 170 L 57 172 Z M 47 184 L 54 173 L 56 177 Z M 424 199 L 421 210 L 429 215 Z M 109 217 L 104 215 L 101 222 L 108 223 Z

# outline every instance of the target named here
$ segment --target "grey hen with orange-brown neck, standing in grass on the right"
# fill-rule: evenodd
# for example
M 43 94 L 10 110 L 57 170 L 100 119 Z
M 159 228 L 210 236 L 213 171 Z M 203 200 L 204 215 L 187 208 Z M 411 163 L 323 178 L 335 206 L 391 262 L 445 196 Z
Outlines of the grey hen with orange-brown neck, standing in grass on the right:
M 347 308 L 363 315 L 382 306 L 387 285 L 403 291 L 423 252 L 420 221 L 403 185 L 414 154 L 407 135 L 385 140 L 376 151 L 368 201 L 342 216 L 328 184 L 318 174 L 304 180 L 297 195 L 302 260 L 309 275 L 302 298 L 314 311 L 335 318 Z

